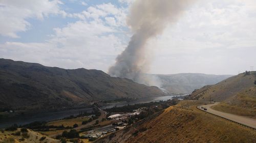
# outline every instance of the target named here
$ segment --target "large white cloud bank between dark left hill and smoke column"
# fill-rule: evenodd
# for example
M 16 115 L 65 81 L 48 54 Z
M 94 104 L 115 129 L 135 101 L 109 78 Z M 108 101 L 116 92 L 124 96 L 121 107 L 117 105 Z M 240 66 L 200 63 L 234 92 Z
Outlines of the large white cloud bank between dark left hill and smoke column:
M 72 14 L 79 20 L 63 28 L 55 28 L 51 39 L 46 42 L 6 42 L 0 45 L 2 58 L 68 69 L 83 67 L 106 71 L 124 45 L 115 36 L 120 32 L 111 21 L 115 19 L 112 14 L 119 13 L 119 9 L 112 7 L 112 4 L 104 5 L 110 7 L 103 10 L 101 5 L 96 5 L 87 11 Z M 111 20 L 104 20 L 107 15 Z

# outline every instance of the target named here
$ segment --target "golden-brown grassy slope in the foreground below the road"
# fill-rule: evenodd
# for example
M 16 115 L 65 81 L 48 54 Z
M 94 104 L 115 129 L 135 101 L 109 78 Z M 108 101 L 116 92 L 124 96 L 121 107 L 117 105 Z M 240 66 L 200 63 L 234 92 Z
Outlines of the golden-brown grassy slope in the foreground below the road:
M 196 104 L 183 101 L 149 121 L 96 142 L 255 142 L 255 130 L 205 113 Z

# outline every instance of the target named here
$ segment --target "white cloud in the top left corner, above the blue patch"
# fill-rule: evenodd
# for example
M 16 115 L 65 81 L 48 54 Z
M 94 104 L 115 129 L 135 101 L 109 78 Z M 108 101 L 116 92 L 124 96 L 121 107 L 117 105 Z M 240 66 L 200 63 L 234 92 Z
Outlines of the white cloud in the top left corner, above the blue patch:
M 18 38 L 17 32 L 28 30 L 28 18 L 42 20 L 49 14 L 65 15 L 66 13 L 59 9 L 60 4 L 62 3 L 58 0 L 0 1 L 0 35 Z

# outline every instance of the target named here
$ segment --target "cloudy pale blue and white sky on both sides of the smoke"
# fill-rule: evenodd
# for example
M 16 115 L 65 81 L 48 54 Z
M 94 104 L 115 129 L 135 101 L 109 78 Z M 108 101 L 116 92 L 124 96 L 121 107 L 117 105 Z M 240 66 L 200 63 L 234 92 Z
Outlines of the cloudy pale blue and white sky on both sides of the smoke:
M 136 0 L 0 0 L 0 58 L 108 72 L 133 35 Z M 198 0 L 147 43 L 147 73 L 256 69 L 256 1 Z

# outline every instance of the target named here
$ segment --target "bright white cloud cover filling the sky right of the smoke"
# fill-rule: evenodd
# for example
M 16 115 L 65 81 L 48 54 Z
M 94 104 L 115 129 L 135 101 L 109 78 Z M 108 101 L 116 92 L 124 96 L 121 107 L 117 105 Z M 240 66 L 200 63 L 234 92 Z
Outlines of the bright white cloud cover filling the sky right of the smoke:
M 151 73 L 237 74 L 255 65 L 255 1 L 199 1 L 148 43 Z M 157 47 L 157 48 L 155 48 Z M 167 64 L 166 64 L 167 63 Z

